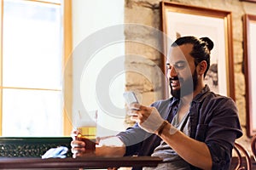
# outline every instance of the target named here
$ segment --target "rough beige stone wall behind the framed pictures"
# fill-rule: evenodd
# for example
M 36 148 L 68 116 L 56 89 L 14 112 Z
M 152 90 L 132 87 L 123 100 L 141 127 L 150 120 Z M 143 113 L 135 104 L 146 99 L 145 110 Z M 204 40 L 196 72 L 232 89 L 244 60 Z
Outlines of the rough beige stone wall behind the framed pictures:
M 243 14 L 256 14 L 256 3 L 246 3 L 239 0 L 171 0 L 170 2 L 188 4 L 204 8 L 220 9 L 232 12 L 232 30 L 233 30 L 233 54 L 234 54 L 234 77 L 236 89 L 236 105 L 239 110 L 241 126 L 243 127 L 244 135 L 238 141 L 250 150 L 250 139 L 246 136 L 246 106 L 245 106 L 245 78 L 242 73 L 243 64 L 243 30 L 242 16 Z M 125 23 L 136 23 L 145 26 L 152 26 L 155 29 L 161 28 L 160 21 L 160 0 L 126 0 L 125 1 Z M 147 33 L 145 33 L 147 32 Z M 145 45 L 140 39 L 146 42 L 155 41 L 152 34 L 148 33 L 150 29 L 135 30 L 125 28 L 125 37 L 130 40 L 133 37 L 138 37 L 137 42 L 127 42 L 125 46 L 125 54 L 144 57 L 145 59 L 126 59 L 125 65 L 128 68 L 137 67 L 151 72 L 150 77 L 156 77 L 154 73 L 156 67 L 163 67 L 160 47 L 152 48 Z M 158 42 L 161 44 L 161 42 Z M 154 64 L 148 62 L 148 59 Z M 141 74 L 129 72 L 126 76 L 126 89 L 136 89 L 139 98 L 143 105 L 149 105 L 156 99 L 165 98 L 165 87 L 163 86 L 164 78 L 159 79 L 154 85 Z M 127 119 L 128 120 L 128 119 Z M 132 123 L 132 122 L 127 122 Z

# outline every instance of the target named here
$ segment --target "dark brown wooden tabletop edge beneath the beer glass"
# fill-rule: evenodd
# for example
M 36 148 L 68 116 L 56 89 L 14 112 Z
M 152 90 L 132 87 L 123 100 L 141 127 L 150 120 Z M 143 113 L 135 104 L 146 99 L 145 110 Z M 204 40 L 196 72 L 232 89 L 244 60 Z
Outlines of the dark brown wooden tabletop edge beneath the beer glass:
M 156 167 L 162 160 L 153 156 L 99 157 L 79 158 L 0 158 L 0 169 L 79 169 L 108 167 Z

